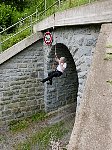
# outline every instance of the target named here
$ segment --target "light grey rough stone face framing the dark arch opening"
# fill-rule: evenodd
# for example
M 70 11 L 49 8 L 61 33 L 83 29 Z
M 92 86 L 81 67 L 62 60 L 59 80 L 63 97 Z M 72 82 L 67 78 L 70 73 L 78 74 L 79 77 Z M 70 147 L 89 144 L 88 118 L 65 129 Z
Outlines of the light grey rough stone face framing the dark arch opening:
M 101 28 L 100 24 L 85 25 L 85 26 L 82 25 L 82 26 L 58 27 L 55 28 L 55 30 L 51 31 L 54 39 L 52 45 L 56 45 L 58 43 L 66 45 L 75 63 L 79 83 L 77 93 L 77 106 L 80 105 L 83 96 L 87 73 L 91 65 L 92 55 L 94 53 L 94 48 L 96 46 L 100 28 Z M 51 47 L 44 46 L 45 75 L 47 75 L 46 70 L 49 70 L 49 68 L 47 68 L 48 66 L 46 65 L 47 61 L 52 62 L 50 58 L 47 58 L 49 57 L 50 50 Z M 45 88 L 45 91 L 46 89 L 47 88 Z M 47 95 L 47 91 L 45 93 Z

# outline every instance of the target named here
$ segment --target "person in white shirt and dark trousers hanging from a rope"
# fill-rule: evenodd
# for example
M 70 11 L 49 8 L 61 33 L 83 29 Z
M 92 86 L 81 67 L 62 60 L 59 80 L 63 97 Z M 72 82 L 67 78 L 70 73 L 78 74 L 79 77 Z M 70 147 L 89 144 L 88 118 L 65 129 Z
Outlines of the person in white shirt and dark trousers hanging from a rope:
M 41 80 L 42 83 L 45 83 L 46 81 L 49 81 L 49 84 L 52 85 L 53 77 L 60 77 L 64 73 L 64 70 L 67 67 L 65 57 L 60 57 L 60 59 L 59 59 L 57 57 L 57 54 L 55 53 L 55 61 L 58 63 L 58 66 L 57 66 L 56 70 L 52 71 L 52 72 L 49 72 L 48 77 Z

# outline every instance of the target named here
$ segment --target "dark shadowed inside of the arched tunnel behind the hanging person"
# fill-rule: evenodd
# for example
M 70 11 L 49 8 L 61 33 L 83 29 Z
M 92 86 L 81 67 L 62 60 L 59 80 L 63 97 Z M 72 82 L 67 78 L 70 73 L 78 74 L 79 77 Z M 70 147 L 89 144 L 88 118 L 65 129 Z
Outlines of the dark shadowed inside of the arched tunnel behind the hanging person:
M 55 51 L 57 56 L 65 57 L 67 68 L 61 77 L 53 78 L 53 85 L 47 85 L 47 111 L 56 110 L 67 104 L 74 104 L 74 110 L 77 105 L 77 92 L 78 92 L 78 75 L 76 71 L 75 62 L 70 54 L 69 49 L 61 43 L 57 43 L 51 47 L 48 56 L 47 70 L 55 70 Z M 54 67 L 55 66 L 55 67 Z

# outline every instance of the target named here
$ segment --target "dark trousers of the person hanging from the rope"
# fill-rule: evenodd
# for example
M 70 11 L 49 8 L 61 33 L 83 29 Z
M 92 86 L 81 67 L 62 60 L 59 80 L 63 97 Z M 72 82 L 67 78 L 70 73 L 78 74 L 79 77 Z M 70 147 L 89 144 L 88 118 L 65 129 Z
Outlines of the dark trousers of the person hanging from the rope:
M 48 77 L 47 78 L 45 78 L 45 79 L 43 79 L 42 80 L 42 82 L 44 83 L 44 82 L 46 82 L 46 81 L 50 81 L 50 85 L 52 85 L 52 78 L 53 77 L 60 77 L 62 75 L 62 72 L 60 72 L 60 71 L 52 71 L 52 72 L 50 72 L 50 73 L 48 73 Z

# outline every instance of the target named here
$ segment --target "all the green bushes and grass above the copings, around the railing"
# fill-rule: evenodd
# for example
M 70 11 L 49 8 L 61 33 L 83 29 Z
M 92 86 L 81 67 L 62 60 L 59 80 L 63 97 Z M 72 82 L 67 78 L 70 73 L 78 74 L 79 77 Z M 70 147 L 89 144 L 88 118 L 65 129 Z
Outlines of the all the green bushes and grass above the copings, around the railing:
M 94 2 L 96 0 L 90 0 L 90 2 Z M 42 2 L 42 3 L 41 3 Z M 51 6 L 56 0 L 49 0 L 47 1 L 46 8 Z M 89 0 L 61 0 L 61 5 L 59 8 L 58 3 L 56 3 L 55 6 L 52 6 L 49 8 L 46 12 L 41 13 L 42 11 L 45 10 L 45 5 L 43 0 L 11 0 L 11 1 L 4 1 L 0 2 L 0 31 L 3 29 L 6 29 L 7 27 L 11 26 L 15 22 L 19 21 L 21 18 L 25 18 L 26 16 L 34 13 L 36 11 L 37 6 L 38 7 L 38 14 L 39 16 L 32 16 L 32 25 L 35 24 L 38 21 L 41 21 L 42 19 L 50 16 L 51 14 L 57 12 L 57 11 L 63 11 L 66 9 L 69 9 L 71 7 L 76 7 L 80 5 L 84 5 L 89 3 Z M 24 7 L 25 6 L 25 7 Z M 19 24 L 16 26 L 12 27 L 8 31 L 2 34 L 1 40 L 4 41 L 8 37 L 13 36 L 17 32 L 20 32 L 21 29 L 24 29 L 29 26 L 25 31 L 18 33 L 16 36 L 8 39 L 4 43 L 2 43 L 2 49 L 0 49 L 0 52 L 6 50 L 7 48 L 11 47 L 15 43 L 21 41 L 25 37 L 29 36 L 32 34 L 30 30 L 32 30 L 31 26 L 31 18 L 27 18 L 26 20 L 20 21 Z

